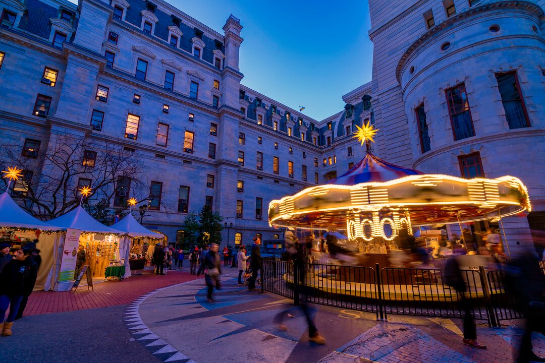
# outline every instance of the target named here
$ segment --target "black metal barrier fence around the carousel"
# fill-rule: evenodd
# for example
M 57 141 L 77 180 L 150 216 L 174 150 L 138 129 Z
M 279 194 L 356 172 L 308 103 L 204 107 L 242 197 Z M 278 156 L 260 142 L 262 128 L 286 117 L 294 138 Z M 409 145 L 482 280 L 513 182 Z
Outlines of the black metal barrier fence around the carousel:
M 501 270 L 462 270 L 467 290 L 457 292 L 445 283 L 440 269 L 375 268 L 264 259 L 262 289 L 299 301 L 387 314 L 463 318 L 468 300 L 475 319 L 496 327 L 522 316 L 502 287 Z

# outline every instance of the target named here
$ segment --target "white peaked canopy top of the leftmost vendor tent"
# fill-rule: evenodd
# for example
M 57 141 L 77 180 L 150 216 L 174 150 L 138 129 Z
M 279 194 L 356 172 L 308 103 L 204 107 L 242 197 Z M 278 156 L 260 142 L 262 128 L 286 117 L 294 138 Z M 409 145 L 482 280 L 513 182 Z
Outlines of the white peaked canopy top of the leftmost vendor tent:
M 53 223 L 42 222 L 18 206 L 8 192 L 0 194 L 0 227 L 31 228 L 44 231 L 59 230 Z

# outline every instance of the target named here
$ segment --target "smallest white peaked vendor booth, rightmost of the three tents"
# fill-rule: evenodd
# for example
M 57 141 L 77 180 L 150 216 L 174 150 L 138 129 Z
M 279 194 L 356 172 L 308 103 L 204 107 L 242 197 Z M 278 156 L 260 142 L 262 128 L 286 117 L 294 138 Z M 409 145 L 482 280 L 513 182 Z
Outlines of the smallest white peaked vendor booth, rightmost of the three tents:
M 136 221 L 131 213 L 112 225 L 121 234 L 119 253 L 125 266 L 124 278 L 142 273 L 150 245 L 162 240 L 163 235 L 148 230 Z

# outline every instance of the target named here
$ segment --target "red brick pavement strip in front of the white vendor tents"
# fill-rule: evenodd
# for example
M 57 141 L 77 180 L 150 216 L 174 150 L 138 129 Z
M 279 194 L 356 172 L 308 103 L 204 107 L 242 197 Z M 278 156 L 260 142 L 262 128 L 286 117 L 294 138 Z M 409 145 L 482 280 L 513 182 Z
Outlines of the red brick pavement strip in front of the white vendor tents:
M 94 291 L 87 286 L 70 291 L 34 291 L 28 298 L 25 316 L 68 312 L 96 307 L 129 304 L 137 297 L 161 287 L 195 280 L 189 272 L 171 270 L 165 276 L 145 272 L 122 281 L 104 281 L 94 285 Z

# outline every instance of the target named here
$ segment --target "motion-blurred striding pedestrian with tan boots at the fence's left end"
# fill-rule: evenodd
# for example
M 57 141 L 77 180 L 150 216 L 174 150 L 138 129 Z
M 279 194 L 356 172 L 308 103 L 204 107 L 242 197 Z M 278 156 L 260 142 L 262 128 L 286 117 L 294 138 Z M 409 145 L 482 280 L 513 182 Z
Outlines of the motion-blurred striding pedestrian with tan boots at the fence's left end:
M 297 241 L 297 238 L 293 235 L 292 231 L 286 231 L 284 234 L 284 241 L 286 245 L 286 251 L 283 253 L 283 259 L 287 261 L 293 261 L 294 270 L 296 273 L 293 274 L 293 279 L 299 279 L 299 286 L 305 288 L 305 285 L 302 282 L 305 281 L 306 268 L 305 268 L 305 246 L 300 244 Z M 299 307 L 302 312 L 305 314 L 307 324 L 308 324 L 308 340 L 317 344 L 325 344 L 325 338 L 320 335 L 316 325 L 314 325 L 314 320 L 312 318 L 311 308 L 305 302 L 299 302 Z M 283 324 L 284 317 L 287 315 L 289 309 L 284 310 L 278 313 L 274 318 L 273 322 L 276 324 L 278 330 L 286 331 L 288 328 Z

